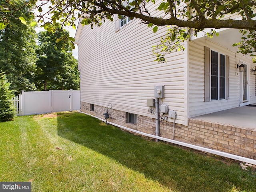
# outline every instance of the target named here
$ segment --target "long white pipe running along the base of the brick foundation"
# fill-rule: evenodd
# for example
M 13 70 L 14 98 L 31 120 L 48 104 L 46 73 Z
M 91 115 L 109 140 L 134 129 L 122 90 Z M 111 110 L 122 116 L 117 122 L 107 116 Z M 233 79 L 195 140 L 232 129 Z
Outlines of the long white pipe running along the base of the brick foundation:
M 91 114 L 87 114 L 87 113 L 84 113 L 84 112 L 80 112 L 80 113 L 90 115 L 94 118 L 97 118 L 99 120 L 102 120 L 102 121 L 106 122 L 106 120 L 98 118 L 98 117 L 93 116 Z M 184 142 L 180 142 L 180 141 L 176 141 L 176 140 L 172 140 L 172 139 L 168 139 L 168 138 L 164 138 L 164 137 L 160 137 L 160 136 L 155 136 L 155 135 L 152 135 L 152 134 L 147 134 L 147 133 L 144 133 L 144 132 L 140 132 L 140 131 L 137 131 L 137 130 L 130 129 L 130 128 L 125 127 L 125 126 L 121 126 L 121 125 L 112 123 L 112 122 L 108 122 L 108 124 L 112 124 L 116 127 L 131 131 L 131 132 L 135 132 L 135 133 L 138 133 L 138 134 L 141 134 L 141 135 L 144 135 L 144 136 L 159 139 L 159 140 L 162 140 L 162 141 L 174 143 L 174 144 L 181 145 L 181 146 L 184 146 L 184 147 L 188 147 L 188 148 L 200 150 L 200 151 L 203 151 L 203 152 L 215 154 L 215 155 L 218 155 L 218 156 L 223 156 L 223 157 L 227 157 L 227 158 L 234 159 L 234 160 L 237 160 L 237 161 L 246 162 L 246 163 L 249 163 L 249 164 L 256 165 L 256 160 L 254 160 L 254 159 L 250 159 L 250 158 L 246 158 L 246 157 L 242 157 L 242 156 L 238 156 L 238 155 L 233 155 L 233 154 L 230 154 L 230 153 L 221 152 L 221 151 L 217 151 L 217 150 L 213 150 L 213 149 L 208 149 L 208 148 L 204 148 L 204 147 L 200 147 L 200 146 L 196 146 L 196 145 L 192 145 L 192 144 L 188 144 L 188 143 L 184 143 Z

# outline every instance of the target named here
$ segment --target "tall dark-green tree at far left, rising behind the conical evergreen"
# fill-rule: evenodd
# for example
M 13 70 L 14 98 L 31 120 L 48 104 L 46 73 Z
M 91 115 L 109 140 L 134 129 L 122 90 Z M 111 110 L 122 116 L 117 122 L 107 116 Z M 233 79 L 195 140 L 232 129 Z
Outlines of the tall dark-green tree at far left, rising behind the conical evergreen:
M 15 94 L 20 94 L 21 90 L 36 89 L 33 83 L 36 67 L 36 32 L 34 27 L 17 20 L 22 16 L 27 22 L 32 22 L 33 7 L 22 6 L 24 0 L 15 3 L 21 8 L 6 17 L 8 25 L 0 30 L 0 69 L 5 72 L 10 82 L 10 89 Z M 0 7 L 4 5 L 8 5 L 6 0 L 0 0 Z

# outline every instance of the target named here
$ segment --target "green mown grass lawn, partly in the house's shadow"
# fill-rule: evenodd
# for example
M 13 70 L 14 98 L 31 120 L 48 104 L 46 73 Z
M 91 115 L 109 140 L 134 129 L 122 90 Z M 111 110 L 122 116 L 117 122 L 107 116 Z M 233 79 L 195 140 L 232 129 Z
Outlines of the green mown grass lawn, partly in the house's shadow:
M 78 112 L 0 123 L 0 181 L 33 192 L 256 192 L 256 175 Z

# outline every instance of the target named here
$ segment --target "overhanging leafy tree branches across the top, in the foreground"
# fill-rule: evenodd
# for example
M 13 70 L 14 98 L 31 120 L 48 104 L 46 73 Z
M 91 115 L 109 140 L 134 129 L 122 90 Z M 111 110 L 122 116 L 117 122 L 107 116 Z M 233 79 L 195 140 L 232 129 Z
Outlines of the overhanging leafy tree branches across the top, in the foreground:
M 12 0 L 6 6 L 0 6 L 0 28 L 8 24 L 6 15 L 15 12 Z M 44 5 L 50 3 L 48 10 L 44 12 Z M 36 2 L 31 0 L 26 5 Z M 155 6 L 155 9 L 149 9 Z M 148 24 L 156 32 L 158 26 L 171 26 L 156 48 L 163 52 L 184 49 L 181 42 L 190 38 L 191 34 L 206 28 L 236 28 L 243 34 L 247 34 L 240 43 L 240 52 L 253 54 L 255 52 L 255 6 L 254 0 L 40 0 L 36 5 L 39 12 L 39 22 L 46 30 L 54 31 L 58 26 L 73 26 L 77 18 L 82 18 L 83 25 L 90 24 L 100 26 L 105 20 L 113 20 L 114 15 L 139 18 Z M 155 14 L 158 12 L 158 14 Z M 46 20 L 48 13 L 50 18 Z M 232 19 L 232 14 L 240 16 Z M 23 18 L 19 18 L 21 22 Z M 23 21 L 24 22 L 24 21 Z M 60 22 L 60 24 L 58 23 Z M 33 24 L 33 23 L 32 23 Z M 184 28 L 186 30 L 184 30 Z M 208 36 L 215 34 L 215 31 L 208 33 Z M 72 40 L 66 37 L 68 40 Z M 174 45 L 174 46 L 173 46 Z M 158 61 L 164 61 L 162 54 L 157 54 Z

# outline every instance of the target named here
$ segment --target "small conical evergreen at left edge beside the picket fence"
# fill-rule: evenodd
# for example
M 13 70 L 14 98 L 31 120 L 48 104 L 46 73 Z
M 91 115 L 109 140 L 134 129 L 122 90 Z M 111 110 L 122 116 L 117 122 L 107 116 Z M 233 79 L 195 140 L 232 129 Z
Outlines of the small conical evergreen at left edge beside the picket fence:
M 5 75 L 1 73 L 0 79 L 0 122 L 10 121 L 14 118 L 14 108 L 11 103 L 12 93 L 10 84 Z

